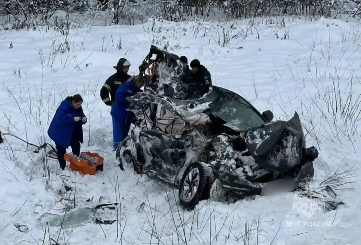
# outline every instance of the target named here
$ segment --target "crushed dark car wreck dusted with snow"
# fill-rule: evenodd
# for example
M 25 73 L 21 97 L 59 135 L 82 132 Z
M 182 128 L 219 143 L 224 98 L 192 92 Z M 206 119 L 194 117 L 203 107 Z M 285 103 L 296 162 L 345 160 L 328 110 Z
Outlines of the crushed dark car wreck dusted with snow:
M 158 54 L 149 62 L 152 52 Z M 149 64 L 156 65 L 152 77 L 144 74 Z M 305 148 L 296 112 L 289 121 L 272 121 L 271 111 L 260 113 L 217 86 L 184 100 L 179 67 L 177 55 L 151 47 L 140 66 L 144 92 L 130 103 L 135 127 L 116 151 L 121 168 L 126 162 L 178 187 L 179 201 L 189 209 L 216 192 L 240 199 L 261 195 L 265 183 L 280 178 L 291 178 L 294 189 L 313 179 L 318 151 Z

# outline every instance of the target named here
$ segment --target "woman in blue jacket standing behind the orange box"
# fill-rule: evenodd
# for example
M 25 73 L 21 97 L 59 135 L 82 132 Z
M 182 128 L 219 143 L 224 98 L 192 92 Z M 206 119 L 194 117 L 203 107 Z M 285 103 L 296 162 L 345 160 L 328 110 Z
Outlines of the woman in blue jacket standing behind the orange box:
M 87 122 L 82 108 L 83 98 L 76 94 L 60 103 L 50 123 L 48 135 L 55 142 L 58 161 L 64 170 L 64 155 L 70 146 L 74 155 L 80 155 L 80 143 L 83 143 L 83 124 Z

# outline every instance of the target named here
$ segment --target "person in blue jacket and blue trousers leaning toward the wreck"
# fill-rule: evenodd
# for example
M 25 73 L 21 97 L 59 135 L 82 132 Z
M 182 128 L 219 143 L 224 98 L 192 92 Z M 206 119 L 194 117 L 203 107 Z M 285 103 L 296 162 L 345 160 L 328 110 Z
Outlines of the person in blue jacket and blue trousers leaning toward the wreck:
M 113 122 L 113 142 L 114 150 L 128 135 L 131 123 L 131 113 L 127 110 L 131 101 L 131 96 L 141 92 L 144 82 L 139 76 L 133 76 L 130 80 L 124 82 L 117 89 L 115 94 L 115 103 L 110 110 Z

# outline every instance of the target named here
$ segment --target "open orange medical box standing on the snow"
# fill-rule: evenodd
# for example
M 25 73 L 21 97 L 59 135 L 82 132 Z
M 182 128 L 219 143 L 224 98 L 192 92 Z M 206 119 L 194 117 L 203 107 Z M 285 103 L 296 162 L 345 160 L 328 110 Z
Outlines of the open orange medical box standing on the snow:
M 84 151 L 80 156 L 65 154 L 64 159 L 70 162 L 69 167 L 83 174 L 94 175 L 96 171 L 103 171 L 104 158 L 97 153 Z

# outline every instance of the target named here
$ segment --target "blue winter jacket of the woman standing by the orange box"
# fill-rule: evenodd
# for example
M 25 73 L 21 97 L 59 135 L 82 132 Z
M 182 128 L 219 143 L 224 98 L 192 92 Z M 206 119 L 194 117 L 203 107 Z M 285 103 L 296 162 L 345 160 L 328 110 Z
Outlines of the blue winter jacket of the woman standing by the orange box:
M 83 143 L 82 121 L 75 122 L 74 117 L 83 117 L 83 108 L 75 110 L 70 100 L 63 100 L 50 123 L 48 135 L 57 145 L 68 148 L 71 138 Z

